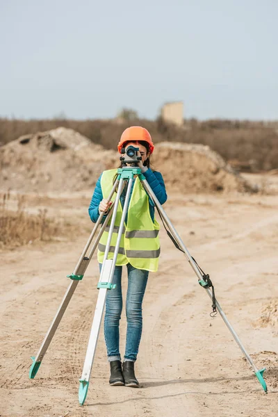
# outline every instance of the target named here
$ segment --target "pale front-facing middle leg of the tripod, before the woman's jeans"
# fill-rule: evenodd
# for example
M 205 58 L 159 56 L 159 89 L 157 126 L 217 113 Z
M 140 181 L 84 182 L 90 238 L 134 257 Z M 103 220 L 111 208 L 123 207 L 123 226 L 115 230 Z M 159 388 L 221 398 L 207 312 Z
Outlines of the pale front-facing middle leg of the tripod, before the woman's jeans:
M 119 184 L 119 189 L 122 189 L 122 179 L 120 180 L 120 184 Z M 119 231 L 118 231 L 118 236 L 117 236 L 117 242 L 115 245 L 115 252 L 114 252 L 114 256 L 113 259 L 107 259 L 108 257 L 108 252 L 109 252 L 109 246 L 111 243 L 111 238 L 112 238 L 112 234 L 113 234 L 113 228 L 114 228 L 114 224 L 115 224 L 115 216 L 117 213 L 117 206 L 120 202 L 120 193 L 118 193 L 116 201 L 115 201 L 115 208 L 113 211 L 113 217 L 111 220 L 111 225 L 110 225 L 110 229 L 109 229 L 109 234 L 108 234 L 108 240 L 106 243 L 106 249 L 104 252 L 104 263 L 102 265 L 101 268 L 101 275 L 100 275 L 100 281 L 98 284 L 98 288 L 99 288 L 99 296 L 97 297 L 97 305 L 95 308 L 95 314 L 94 314 L 94 318 L 92 321 L 92 329 L 90 332 L 90 338 L 89 338 L 89 343 L 88 343 L 88 348 L 87 348 L 87 352 L 86 352 L 86 356 L 85 356 L 85 362 L 84 362 L 84 366 L 83 366 L 83 372 L 82 372 L 82 376 L 81 379 L 79 379 L 80 385 L 79 385 L 79 403 L 82 405 L 85 402 L 85 398 L 87 396 L 88 393 L 88 387 L 89 387 L 89 380 L 90 380 L 90 373 L 92 370 L 92 363 L 94 361 L 94 357 L 95 357 L 95 350 L 97 347 L 97 339 L 99 337 L 99 329 L 100 329 L 100 325 L 101 325 L 101 319 L 104 313 L 104 305 L 105 305 L 105 301 L 106 301 L 106 293 L 108 289 L 113 289 L 115 288 L 113 286 L 113 275 L 114 275 L 114 271 L 115 271 L 115 265 L 117 262 L 117 254 L 119 252 L 119 248 L 120 248 L 120 240 L 121 240 L 121 236 L 122 236 L 122 230 L 124 228 L 124 220 L 126 217 L 126 211 L 129 205 L 129 196 L 131 194 L 131 186 L 132 186 L 132 179 L 129 179 L 129 185 L 127 187 L 126 190 L 126 197 L 125 197 L 125 201 L 124 201 L 124 207 L 122 209 L 122 218 L 120 221 L 120 227 L 119 227 Z

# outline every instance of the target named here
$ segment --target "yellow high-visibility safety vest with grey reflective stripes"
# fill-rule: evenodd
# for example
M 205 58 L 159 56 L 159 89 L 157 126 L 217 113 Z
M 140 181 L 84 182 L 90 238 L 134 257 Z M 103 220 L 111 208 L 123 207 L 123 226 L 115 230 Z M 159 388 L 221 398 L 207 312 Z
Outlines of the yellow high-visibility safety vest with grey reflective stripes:
M 106 199 L 111 193 L 115 174 L 117 174 L 117 169 L 104 171 L 101 175 L 102 195 Z M 112 200 L 115 201 L 115 193 Z M 113 259 L 121 218 L 122 204 L 119 203 L 108 259 Z M 99 240 L 99 250 L 97 252 L 99 263 L 104 261 L 110 223 L 111 220 L 109 220 L 104 234 Z M 124 222 L 116 265 L 131 263 L 134 268 L 156 272 L 158 270 L 158 256 L 161 252 L 158 238 L 159 229 L 158 222 L 156 222 L 156 219 L 153 222 L 149 213 L 149 196 L 140 183 L 140 179 L 136 177 L 129 202 L 127 224 Z

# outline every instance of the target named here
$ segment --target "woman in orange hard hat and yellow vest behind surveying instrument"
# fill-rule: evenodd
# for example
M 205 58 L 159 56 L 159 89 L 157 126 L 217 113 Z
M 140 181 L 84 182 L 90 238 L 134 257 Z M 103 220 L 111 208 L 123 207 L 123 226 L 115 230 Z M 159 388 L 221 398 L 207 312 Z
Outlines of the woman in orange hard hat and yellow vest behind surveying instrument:
M 142 170 L 149 186 L 154 191 L 158 201 L 163 204 L 167 199 L 163 177 L 159 172 L 150 168 L 150 156 L 154 152 L 152 137 L 147 129 L 141 126 L 131 126 L 122 133 L 118 151 L 122 147 L 133 145 L 139 148 L 142 161 L 138 167 Z M 99 213 L 108 213 L 113 181 L 117 170 L 104 171 L 97 181 L 95 192 L 89 207 L 92 222 L 97 222 Z M 117 227 L 120 225 L 122 207 L 126 189 L 120 197 L 108 259 L 113 259 L 113 250 L 117 240 Z M 104 215 L 105 218 L 105 215 Z M 104 219 L 103 219 L 104 220 Z M 122 234 L 120 250 L 117 255 L 113 284 L 116 288 L 107 292 L 106 313 L 104 318 L 104 336 L 108 361 L 111 368 L 109 384 L 138 387 L 139 383 L 134 373 L 134 363 L 137 359 L 140 338 L 142 334 L 142 300 L 147 286 L 149 272 L 158 269 L 160 245 L 158 240 L 159 224 L 154 217 L 154 204 L 142 187 L 139 179 L 133 179 L 129 208 L 125 218 L 125 230 Z M 108 231 L 104 231 L 99 241 L 97 258 L 100 268 L 104 259 Z M 114 245 L 114 246 L 113 246 Z M 128 288 L 126 293 L 126 350 L 124 362 L 121 362 L 119 350 L 119 324 L 122 313 L 122 266 L 126 265 L 128 272 Z

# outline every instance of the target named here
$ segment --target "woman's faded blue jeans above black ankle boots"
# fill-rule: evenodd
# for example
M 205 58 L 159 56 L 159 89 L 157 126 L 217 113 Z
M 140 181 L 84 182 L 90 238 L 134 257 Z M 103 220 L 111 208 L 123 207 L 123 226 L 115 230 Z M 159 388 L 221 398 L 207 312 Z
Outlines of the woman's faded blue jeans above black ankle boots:
M 124 360 L 135 362 L 142 334 L 142 301 L 147 286 L 149 271 L 126 265 L 128 287 L 126 293 L 126 350 Z M 100 265 L 101 268 L 101 265 Z M 120 318 L 122 314 L 122 266 L 116 266 L 113 284 L 116 288 L 107 291 L 104 317 L 104 337 L 108 361 L 120 361 Z

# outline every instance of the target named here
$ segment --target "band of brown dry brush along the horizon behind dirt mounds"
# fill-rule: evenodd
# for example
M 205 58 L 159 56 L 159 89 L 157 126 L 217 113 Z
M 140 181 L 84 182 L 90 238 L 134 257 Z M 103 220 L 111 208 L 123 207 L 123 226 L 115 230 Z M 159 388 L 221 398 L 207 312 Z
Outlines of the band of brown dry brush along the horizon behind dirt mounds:
M 28 133 L 47 131 L 64 126 L 106 149 L 116 149 L 117 142 L 126 127 L 141 124 L 152 134 L 154 142 L 174 141 L 202 143 L 218 152 L 227 161 L 238 161 L 240 169 L 274 170 L 278 167 L 278 123 L 265 124 L 240 120 L 186 120 L 182 128 L 165 124 L 160 118 L 150 120 L 126 120 L 118 124 L 113 120 L 9 120 L 0 118 L 0 145 Z M 0 161 L 1 163 L 1 161 Z

